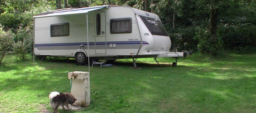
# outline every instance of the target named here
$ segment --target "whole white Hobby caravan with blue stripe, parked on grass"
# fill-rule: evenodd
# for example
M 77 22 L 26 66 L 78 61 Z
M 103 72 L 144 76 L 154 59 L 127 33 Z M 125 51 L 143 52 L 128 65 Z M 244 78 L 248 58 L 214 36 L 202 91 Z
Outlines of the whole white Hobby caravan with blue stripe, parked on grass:
M 33 18 L 34 54 L 42 58 L 75 58 L 78 64 L 133 59 L 136 68 L 137 58 L 190 54 L 169 51 L 171 40 L 158 15 L 128 6 L 53 10 Z

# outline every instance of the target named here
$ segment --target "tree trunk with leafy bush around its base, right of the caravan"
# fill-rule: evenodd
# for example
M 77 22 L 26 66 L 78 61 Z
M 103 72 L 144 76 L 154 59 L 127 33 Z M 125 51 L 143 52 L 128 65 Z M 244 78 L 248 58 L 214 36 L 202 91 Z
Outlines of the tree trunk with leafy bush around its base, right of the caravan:
M 209 23 L 206 28 L 204 25 L 199 27 L 197 38 L 199 39 L 199 51 L 204 56 L 217 57 L 221 55 L 223 41 L 217 36 L 218 10 L 222 1 L 219 0 L 201 0 L 198 1 L 200 6 L 209 13 Z M 204 31 L 205 30 L 205 31 Z

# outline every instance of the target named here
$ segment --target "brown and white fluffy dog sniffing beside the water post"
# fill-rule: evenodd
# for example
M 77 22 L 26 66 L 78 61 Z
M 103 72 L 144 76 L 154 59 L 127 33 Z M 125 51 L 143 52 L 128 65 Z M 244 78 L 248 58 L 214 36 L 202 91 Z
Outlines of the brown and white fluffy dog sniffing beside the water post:
M 70 93 L 59 93 L 59 92 L 50 92 L 49 94 L 50 99 L 50 106 L 53 109 L 54 113 L 57 112 L 57 108 L 59 105 L 62 105 L 62 108 L 64 108 L 64 105 L 69 109 L 68 104 L 73 104 L 77 99 L 75 99 L 73 94 Z

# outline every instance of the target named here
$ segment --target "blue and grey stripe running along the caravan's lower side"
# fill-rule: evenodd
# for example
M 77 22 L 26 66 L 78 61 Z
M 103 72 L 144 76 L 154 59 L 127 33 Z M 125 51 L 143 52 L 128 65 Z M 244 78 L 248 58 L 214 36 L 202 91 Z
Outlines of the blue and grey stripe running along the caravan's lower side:
M 96 45 L 107 45 L 109 44 L 141 44 L 141 41 L 115 41 L 115 42 L 96 42 Z M 51 44 L 35 44 L 35 46 L 70 46 L 70 45 L 87 45 L 87 42 L 76 42 L 76 43 L 51 43 Z M 94 45 L 95 42 L 89 42 L 89 45 Z M 146 41 L 142 41 L 142 44 L 149 44 Z

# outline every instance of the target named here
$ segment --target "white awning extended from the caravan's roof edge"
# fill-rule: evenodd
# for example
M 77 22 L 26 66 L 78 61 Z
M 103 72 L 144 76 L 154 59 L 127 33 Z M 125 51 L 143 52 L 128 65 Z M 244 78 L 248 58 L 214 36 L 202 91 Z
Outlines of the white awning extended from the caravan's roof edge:
M 64 10 L 64 11 L 56 11 L 51 13 L 41 13 L 37 16 L 34 16 L 33 18 L 41 18 L 41 17 L 52 17 L 52 16 L 61 16 L 61 15 L 72 15 L 72 14 L 82 14 L 82 13 L 88 13 L 90 11 L 95 11 L 99 9 L 106 8 L 107 5 L 103 6 L 96 6 L 96 7 L 86 7 L 86 8 L 78 8 L 78 9 L 71 9 L 71 10 Z

